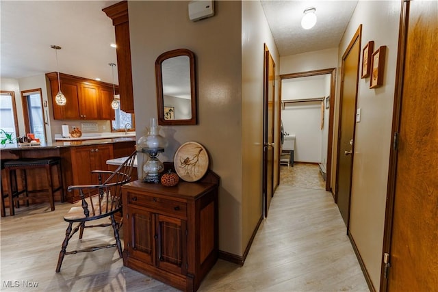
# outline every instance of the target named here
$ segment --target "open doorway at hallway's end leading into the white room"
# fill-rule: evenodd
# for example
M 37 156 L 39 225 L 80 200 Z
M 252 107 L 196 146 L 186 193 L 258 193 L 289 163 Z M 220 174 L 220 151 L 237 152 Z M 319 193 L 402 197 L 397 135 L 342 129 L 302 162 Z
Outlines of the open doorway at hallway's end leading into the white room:
M 316 176 L 325 176 L 322 189 L 331 191 L 336 68 L 280 75 L 280 78 L 280 118 L 284 123 L 285 139 L 294 136 L 295 147 L 290 155 L 293 155 L 293 161 L 305 163 L 294 162 L 293 168 L 296 169 L 279 165 L 279 181 L 280 176 L 287 175 L 285 172 L 290 172 L 292 176 L 295 172 L 298 175 L 296 178 L 300 179 L 302 171 L 314 174 L 316 170 Z M 303 123 L 302 119 L 310 120 Z M 288 179 L 294 180 L 293 177 Z M 309 181 L 314 180 L 309 178 Z M 306 183 L 302 181 L 300 185 L 305 186 Z

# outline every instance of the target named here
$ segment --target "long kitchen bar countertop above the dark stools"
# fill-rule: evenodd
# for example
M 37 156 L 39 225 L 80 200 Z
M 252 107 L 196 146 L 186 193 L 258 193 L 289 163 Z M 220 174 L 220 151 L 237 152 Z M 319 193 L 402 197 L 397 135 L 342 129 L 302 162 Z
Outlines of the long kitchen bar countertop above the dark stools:
M 136 137 L 117 137 L 112 139 L 99 139 L 99 140 L 78 140 L 68 142 L 41 142 L 38 146 L 19 146 L 18 144 L 6 144 L 0 146 L 0 151 L 3 150 L 38 150 L 38 149 L 57 149 L 67 148 L 73 146 L 87 146 L 87 145 L 99 145 L 99 144 L 114 144 L 120 142 L 136 142 Z

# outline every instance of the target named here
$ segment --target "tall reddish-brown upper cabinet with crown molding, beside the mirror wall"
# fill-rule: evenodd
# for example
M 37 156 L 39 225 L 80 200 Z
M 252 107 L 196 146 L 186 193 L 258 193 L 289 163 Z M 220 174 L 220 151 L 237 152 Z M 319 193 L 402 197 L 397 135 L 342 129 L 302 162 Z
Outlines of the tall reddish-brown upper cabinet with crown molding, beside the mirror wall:
M 103 8 L 102 11 L 112 19 L 116 34 L 120 109 L 133 114 L 134 100 L 132 90 L 131 45 L 129 43 L 128 2 L 122 1 L 116 3 L 110 7 Z

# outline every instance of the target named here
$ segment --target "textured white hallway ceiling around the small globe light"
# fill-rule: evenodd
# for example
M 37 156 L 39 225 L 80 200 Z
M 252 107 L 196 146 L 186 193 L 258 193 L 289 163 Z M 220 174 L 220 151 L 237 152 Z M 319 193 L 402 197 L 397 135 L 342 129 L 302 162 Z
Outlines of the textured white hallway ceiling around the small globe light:
M 281 56 L 335 48 L 344 34 L 357 1 L 261 1 Z M 306 8 L 316 8 L 312 29 L 301 27 Z

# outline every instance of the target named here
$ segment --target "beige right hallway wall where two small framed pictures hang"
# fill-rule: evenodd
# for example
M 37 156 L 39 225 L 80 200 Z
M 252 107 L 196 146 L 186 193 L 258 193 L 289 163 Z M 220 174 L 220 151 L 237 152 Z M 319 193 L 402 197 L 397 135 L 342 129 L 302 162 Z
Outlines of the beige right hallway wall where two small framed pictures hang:
M 341 66 L 342 54 L 362 24 L 361 48 L 370 40 L 374 51 L 387 46 L 383 86 L 370 89 L 370 78 L 359 77 L 361 122 L 356 124 L 350 202 L 350 233 L 376 290 L 381 278 L 400 7 L 399 1 L 359 1 L 339 45 Z

